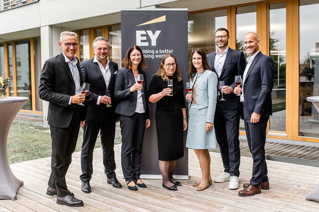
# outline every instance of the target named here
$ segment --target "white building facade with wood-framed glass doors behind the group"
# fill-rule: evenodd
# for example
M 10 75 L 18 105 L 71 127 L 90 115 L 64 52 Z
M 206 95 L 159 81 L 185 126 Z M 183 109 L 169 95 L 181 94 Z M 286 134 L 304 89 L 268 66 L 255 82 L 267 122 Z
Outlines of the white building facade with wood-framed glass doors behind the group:
M 219 27 L 240 51 L 244 34 L 256 32 L 275 62 L 267 137 L 319 143 L 319 115 L 306 100 L 319 96 L 319 0 L 0 0 L 0 72 L 13 79 L 8 95 L 30 99 L 21 112 L 47 113 L 39 76 L 43 62 L 60 54 L 62 31 L 78 33 L 80 61 L 93 57 L 96 36 L 108 37 L 109 58 L 121 66 L 120 11 L 134 8 L 188 8 L 189 55 L 197 47 L 215 51 Z

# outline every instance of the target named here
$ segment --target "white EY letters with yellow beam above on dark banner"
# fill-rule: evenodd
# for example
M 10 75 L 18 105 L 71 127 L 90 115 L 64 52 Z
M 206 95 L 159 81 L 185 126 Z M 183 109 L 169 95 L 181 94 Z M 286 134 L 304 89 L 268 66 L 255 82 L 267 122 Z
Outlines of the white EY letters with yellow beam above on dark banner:
M 147 21 L 145 23 L 142 23 L 137 26 L 142 26 L 142 25 L 147 25 L 147 24 L 154 24 L 154 23 L 159 23 L 166 21 L 166 15 L 161 16 L 159 18 L 155 18 L 153 20 Z M 148 42 L 142 42 L 142 40 L 146 40 L 147 37 L 145 35 L 148 35 L 149 38 L 151 39 L 151 46 L 156 46 L 156 39 L 159 36 L 159 33 L 161 30 L 156 30 L 154 33 L 151 30 L 137 30 L 136 31 L 136 45 L 137 46 L 149 46 Z

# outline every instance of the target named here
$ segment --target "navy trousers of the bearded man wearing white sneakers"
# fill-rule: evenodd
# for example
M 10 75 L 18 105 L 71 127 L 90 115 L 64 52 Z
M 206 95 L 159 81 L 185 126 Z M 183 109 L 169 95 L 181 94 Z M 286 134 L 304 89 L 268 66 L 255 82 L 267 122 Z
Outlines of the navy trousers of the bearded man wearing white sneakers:
M 240 165 L 239 120 L 239 109 L 229 110 L 217 103 L 214 128 L 224 172 L 237 177 L 239 177 Z

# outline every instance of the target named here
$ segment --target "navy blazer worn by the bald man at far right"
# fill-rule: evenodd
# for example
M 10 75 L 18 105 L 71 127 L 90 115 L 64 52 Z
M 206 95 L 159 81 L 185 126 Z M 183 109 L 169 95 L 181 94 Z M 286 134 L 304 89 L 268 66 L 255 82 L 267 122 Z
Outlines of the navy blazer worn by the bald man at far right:
M 261 52 L 251 62 L 244 83 L 245 103 L 242 108 L 245 121 L 250 121 L 253 112 L 261 114 L 261 117 L 272 115 L 274 71 L 273 60 Z

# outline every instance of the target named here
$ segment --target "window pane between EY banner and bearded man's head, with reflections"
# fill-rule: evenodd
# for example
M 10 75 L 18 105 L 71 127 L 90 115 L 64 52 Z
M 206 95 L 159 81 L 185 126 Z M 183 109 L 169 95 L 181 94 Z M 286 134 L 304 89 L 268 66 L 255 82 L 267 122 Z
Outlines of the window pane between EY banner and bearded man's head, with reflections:
M 194 48 L 206 54 L 215 51 L 215 31 L 227 28 L 227 10 L 215 10 L 188 15 L 188 61 Z

